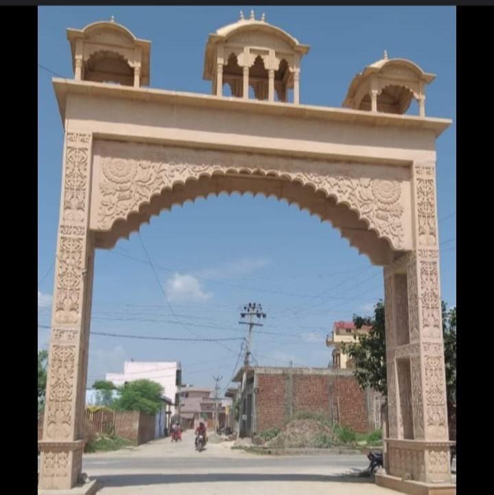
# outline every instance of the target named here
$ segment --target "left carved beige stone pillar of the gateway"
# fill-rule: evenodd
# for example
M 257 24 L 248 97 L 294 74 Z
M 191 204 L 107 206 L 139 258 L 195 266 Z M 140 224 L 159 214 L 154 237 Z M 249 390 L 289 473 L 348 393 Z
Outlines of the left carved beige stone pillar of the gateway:
M 82 467 L 94 262 L 88 230 L 91 146 L 91 134 L 66 133 L 45 417 L 38 442 L 40 489 L 73 487 Z

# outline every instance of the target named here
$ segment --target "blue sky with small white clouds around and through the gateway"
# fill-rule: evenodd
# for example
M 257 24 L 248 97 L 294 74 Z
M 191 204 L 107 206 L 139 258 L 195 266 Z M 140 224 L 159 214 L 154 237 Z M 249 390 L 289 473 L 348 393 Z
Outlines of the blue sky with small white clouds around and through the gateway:
M 211 93 L 202 80 L 209 33 L 237 21 L 242 7 L 39 7 L 38 63 L 72 78 L 67 27 L 109 20 L 152 42 L 151 87 Z M 250 12 L 250 5 L 242 8 Z M 382 57 L 409 58 L 436 74 L 426 113 L 453 119 L 437 141 L 441 290 L 456 304 L 456 10 L 451 7 L 256 7 L 269 23 L 311 45 L 301 65 L 301 102 L 341 106 L 355 74 Z M 38 348 L 47 347 L 60 205 L 63 129 L 51 86 L 38 68 Z M 416 108 L 412 108 L 416 113 Z M 95 262 L 91 330 L 146 336 L 235 338 L 239 310 L 268 314 L 252 354 L 262 365 L 326 366 L 333 321 L 370 314 L 383 297 L 382 268 L 349 247 L 328 223 L 285 201 L 211 196 L 174 207 L 141 227 L 174 314 L 137 234 Z M 228 349 L 225 348 L 228 347 Z M 183 380 L 226 387 L 240 341 L 168 343 L 93 335 L 89 383 L 123 371 L 124 360 L 180 360 Z

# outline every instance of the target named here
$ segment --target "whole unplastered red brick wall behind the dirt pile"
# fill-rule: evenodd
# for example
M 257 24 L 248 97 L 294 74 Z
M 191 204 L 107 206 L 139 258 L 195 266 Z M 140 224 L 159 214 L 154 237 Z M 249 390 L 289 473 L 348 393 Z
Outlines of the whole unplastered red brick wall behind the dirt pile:
M 323 413 L 361 433 L 369 431 L 366 398 L 353 376 L 298 374 L 292 378 L 293 413 Z M 282 428 L 289 418 L 290 376 L 257 373 L 257 432 Z M 331 411 L 331 404 L 333 410 Z M 372 429 L 372 428 L 371 428 Z

